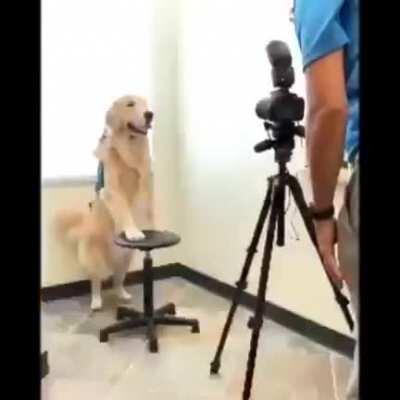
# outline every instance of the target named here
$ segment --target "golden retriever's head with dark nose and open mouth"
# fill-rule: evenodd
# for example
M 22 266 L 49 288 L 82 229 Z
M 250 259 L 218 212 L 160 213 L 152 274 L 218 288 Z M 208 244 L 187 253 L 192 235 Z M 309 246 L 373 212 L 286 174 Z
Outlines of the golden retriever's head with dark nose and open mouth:
M 115 133 L 127 133 L 132 138 L 147 135 L 153 113 L 147 101 L 139 96 L 124 96 L 113 103 L 106 115 L 106 124 Z

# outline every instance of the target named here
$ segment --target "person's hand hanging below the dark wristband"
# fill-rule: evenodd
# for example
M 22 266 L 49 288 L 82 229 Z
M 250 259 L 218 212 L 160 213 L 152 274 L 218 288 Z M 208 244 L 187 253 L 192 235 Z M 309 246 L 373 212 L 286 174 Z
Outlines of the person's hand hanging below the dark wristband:
M 322 258 L 322 263 L 333 282 L 342 288 L 343 275 L 340 271 L 339 263 L 335 254 L 335 244 L 337 242 L 336 220 L 314 221 L 315 233 L 317 237 L 318 250 Z

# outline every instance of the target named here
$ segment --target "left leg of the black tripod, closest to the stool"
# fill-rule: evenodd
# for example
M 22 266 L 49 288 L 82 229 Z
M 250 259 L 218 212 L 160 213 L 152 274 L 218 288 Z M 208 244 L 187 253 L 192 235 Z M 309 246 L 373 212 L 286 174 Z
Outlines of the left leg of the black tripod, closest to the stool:
M 231 308 L 229 310 L 228 317 L 226 319 L 224 329 L 222 331 L 222 335 L 221 335 L 221 339 L 220 339 L 219 344 L 218 344 L 217 351 L 215 353 L 213 361 L 211 362 L 211 369 L 210 369 L 210 373 L 211 374 L 217 374 L 218 371 L 219 371 L 219 368 L 220 368 L 220 365 L 221 365 L 221 355 L 222 355 L 222 352 L 223 352 L 224 347 L 225 347 L 225 342 L 226 342 L 226 339 L 228 337 L 228 333 L 229 333 L 230 327 L 232 325 L 234 314 L 235 314 L 236 309 L 237 309 L 238 304 L 239 304 L 240 295 L 242 294 L 243 290 L 246 289 L 246 286 L 247 286 L 247 282 L 246 282 L 247 276 L 248 276 L 249 271 L 250 271 L 251 263 L 253 262 L 254 254 L 257 252 L 257 245 L 258 245 L 258 242 L 260 240 L 260 236 L 261 236 L 262 230 L 264 228 L 265 220 L 267 219 L 267 216 L 268 216 L 269 208 L 271 206 L 273 180 L 274 180 L 273 177 L 268 180 L 267 195 L 265 197 L 264 204 L 263 204 L 263 207 L 261 209 L 260 216 L 258 218 L 256 228 L 254 230 L 253 238 L 252 238 L 250 246 L 249 246 L 249 248 L 247 250 L 247 256 L 246 256 L 246 260 L 245 260 L 245 263 L 244 263 L 244 266 L 243 266 L 243 269 L 242 269 L 242 272 L 241 272 L 241 275 L 240 275 L 240 279 L 236 283 L 236 290 L 235 290 L 235 293 L 233 295 L 232 305 L 231 305 Z

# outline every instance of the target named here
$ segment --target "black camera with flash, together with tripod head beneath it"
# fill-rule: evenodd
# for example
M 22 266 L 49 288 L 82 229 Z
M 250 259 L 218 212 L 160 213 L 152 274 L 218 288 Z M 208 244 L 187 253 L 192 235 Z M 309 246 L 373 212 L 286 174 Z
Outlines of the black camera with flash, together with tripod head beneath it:
M 294 137 L 304 137 L 304 127 L 299 124 L 304 117 L 304 100 L 289 91 L 294 83 L 294 69 L 288 46 L 274 40 L 267 45 L 266 51 L 272 65 L 273 85 L 278 89 L 256 105 L 256 114 L 264 120 L 270 138 L 258 143 L 254 150 L 261 153 L 274 149 L 275 161 L 285 166 L 295 147 Z

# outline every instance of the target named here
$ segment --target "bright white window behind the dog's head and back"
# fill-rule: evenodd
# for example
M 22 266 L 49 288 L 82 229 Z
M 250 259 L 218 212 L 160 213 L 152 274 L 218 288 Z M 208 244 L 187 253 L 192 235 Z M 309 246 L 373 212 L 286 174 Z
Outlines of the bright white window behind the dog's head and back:
M 105 112 L 149 95 L 150 1 L 42 1 L 42 179 L 93 176 Z

